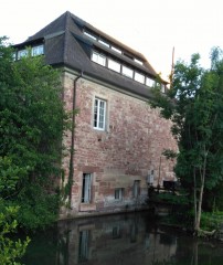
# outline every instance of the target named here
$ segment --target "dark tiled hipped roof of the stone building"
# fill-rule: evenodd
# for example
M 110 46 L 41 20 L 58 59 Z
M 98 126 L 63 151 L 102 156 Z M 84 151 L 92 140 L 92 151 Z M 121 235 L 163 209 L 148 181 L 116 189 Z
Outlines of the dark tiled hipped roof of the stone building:
M 97 41 L 91 40 L 83 34 L 83 29 L 87 29 L 97 35 L 104 38 L 113 45 L 120 47 L 123 51 L 130 53 L 136 59 L 144 62 L 139 65 L 127 56 L 107 49 L 105 45 L 99 44 Z M 14 47 L 24 47 L 33 43 L 39 43 L 44 40 L 45 60 L 51 65 L 65 65 L 73 70 L 83 72 L 86 75 L 108 82 L 113 85 L 123 87 L 124 89 L 138 94 L 144 97 L 149 97 L 149 87 L 125 77 L 124 75 L 100 66 L 91 61 L 91 51 L 93 47 L 103 51 L 124 62 L 131 65 L 147 76 L 156 78 L 157 73 L 147 62 L 144 55 L 110 38 L 106 33 L 95 29 L 91 24 L 70 13 L 63 13 L 60 18 L 51 22 L 49 25 L 40 30 L 34 35 L 30 36 L 25 42 L 14 45 Z

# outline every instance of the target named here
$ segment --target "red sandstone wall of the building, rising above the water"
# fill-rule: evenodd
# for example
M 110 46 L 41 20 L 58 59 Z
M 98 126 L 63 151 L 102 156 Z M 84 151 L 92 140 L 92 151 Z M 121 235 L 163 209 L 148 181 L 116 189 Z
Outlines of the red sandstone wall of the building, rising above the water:
M 71 109 L 73 77 L 65 78 L 65 102 Z M 107 100 L 107 130 L 93 128 L 94 98 Z M 157 109 L 140 99 L 81 78 L 77 82 L 74 156 L 74 186 L 72 205 L 78 211 L 104 211 L 124 204 L 136 203 L 132 199 L 134 180 L 140 180 L 141 201 L 147 197 L 148 171 L 155 170 L 155 184 L 160 179 L 173 179 L 173 162 L 160 156 L 163 149 L 176 149 L 170 134 L 170 123 L 161 119 Z M 65 145 L 71 145 L 70 135 Z M 64 162 L 67 169 L 68 160 Z M 160 173 L 159 173 L 160 168 Z M 83 172 L 94 173 L 93 203 L 81 204 Z M 67 173 L 67 170 L 66 170 Z M 159 178 L 160 176 L 160 178 Z M 125 188 L 125 200 L 114 201 L 115 188 Z

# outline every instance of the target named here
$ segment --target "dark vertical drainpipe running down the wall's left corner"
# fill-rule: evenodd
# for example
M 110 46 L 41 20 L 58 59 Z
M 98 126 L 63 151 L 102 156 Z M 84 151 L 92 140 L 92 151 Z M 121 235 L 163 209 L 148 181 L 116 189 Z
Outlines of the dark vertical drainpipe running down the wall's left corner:
M 77 76 L 74 80 L 74 86 L 73 86 L 73 103 L 72 103 L 72 142 L 71 142 L 71 158 L 70 158 L 70 171 L 68 171 L 68 205 L 72 209 L 71 202 L 72 202 L 72 184 L 73 184 L 73 177 L 74 177 L 74 128 L 75 128 L 75 108 L 76 108 L 76 84 L 77 81 L 83 77 L 83 71 L 79 76 Z

